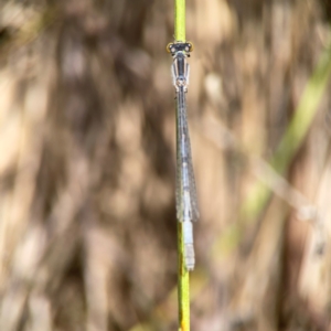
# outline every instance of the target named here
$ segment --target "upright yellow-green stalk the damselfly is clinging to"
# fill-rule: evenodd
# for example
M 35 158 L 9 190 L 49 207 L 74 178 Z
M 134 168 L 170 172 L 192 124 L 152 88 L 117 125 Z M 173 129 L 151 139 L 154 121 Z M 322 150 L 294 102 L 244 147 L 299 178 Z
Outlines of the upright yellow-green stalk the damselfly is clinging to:
M 185 0 L 174 0 L 174 39 L 184 42 Z M 178 111 L 178 109 L 177 109 Z M 177 117 L 178 118 L 178 117 Z M 178 220 L 178 309 L 179 331 L 190 331 L 190 274 L 184 261 L 183 223 Z

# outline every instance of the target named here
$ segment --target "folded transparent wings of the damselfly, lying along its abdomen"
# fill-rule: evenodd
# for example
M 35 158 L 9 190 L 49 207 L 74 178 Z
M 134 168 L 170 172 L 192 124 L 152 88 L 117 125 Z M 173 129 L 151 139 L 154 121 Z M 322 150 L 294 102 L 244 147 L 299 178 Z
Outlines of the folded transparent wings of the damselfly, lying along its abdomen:
M 197 221 L 199 207 L 183 87 L 177 93 L 177 216 L 180 222 Z

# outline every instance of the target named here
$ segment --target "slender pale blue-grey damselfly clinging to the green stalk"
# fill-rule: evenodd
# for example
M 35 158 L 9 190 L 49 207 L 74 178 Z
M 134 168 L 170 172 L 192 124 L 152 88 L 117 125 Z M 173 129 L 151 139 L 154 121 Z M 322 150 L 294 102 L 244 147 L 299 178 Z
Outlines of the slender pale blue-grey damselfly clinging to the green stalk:
M 188 270 L 193 270 L 195 264 L 192 222 L 199 218 L 185 96 L 190 78 L 188 57 L 192 50 L 193 45 L 190 42 L 175 42 L 167 46 L 167 51 L 173 57 L 171 72 L 177 98 L 177 217 L 179 222 L 183 222 L 184 255 Z

